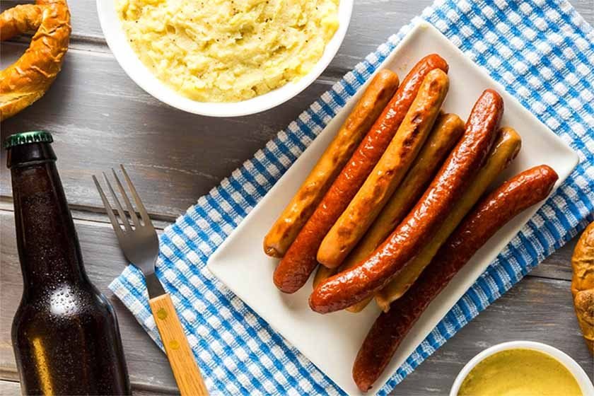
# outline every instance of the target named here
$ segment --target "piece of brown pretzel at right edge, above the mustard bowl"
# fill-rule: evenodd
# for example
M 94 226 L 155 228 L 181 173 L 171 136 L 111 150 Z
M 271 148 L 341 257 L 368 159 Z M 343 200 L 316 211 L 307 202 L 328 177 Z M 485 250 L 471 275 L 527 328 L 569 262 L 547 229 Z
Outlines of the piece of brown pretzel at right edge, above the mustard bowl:
M 573 306 L 583 338 L 594 354 L 594 223 L 583 231 L 571 257 Z

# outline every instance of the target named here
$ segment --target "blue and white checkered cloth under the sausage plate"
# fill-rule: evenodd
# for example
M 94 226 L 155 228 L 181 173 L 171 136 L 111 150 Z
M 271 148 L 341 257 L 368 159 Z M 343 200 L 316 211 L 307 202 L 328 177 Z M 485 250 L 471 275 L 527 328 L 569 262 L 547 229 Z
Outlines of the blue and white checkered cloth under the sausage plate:
M 567 1 L 436 1 L 429 21 L 579 153 L 553 197 L 409 356 L 379 394 L 397 383 L 593 220 L 594 30 Z M 181 314 L 213 394 L 339 394 L 337 385 L 289 345 L 205 264 L 257 202 L 412 27 L 380 45 L 161 236 L 157 274 Z M 110 289 L 162 348 L 144 280 L 128 267 Z

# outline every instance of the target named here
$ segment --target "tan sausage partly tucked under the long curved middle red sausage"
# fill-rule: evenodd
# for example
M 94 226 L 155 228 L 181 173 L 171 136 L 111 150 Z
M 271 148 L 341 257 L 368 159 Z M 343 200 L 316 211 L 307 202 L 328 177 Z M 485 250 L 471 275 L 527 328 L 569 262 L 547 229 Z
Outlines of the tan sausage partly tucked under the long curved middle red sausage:
M 373 250 L 385 238 L 388 238 L 388 235 L 408 214 L 412 206 L 417 203 L 419 197 L 439 170 L 445 157 L 460 140 L 462 132 L 464 132 L 464 122 L 458 115 L 445 114 L 438 118 L 435 127 L 433 127 L 433 132 L 427 138 L 427 142 L 421 149 L 417 159 L 414 160 L 414 164 L 407 173 L 407 177 L 402 181 L 402 185 L 392 195 L 388 204 L 382 209 L 378 218 L 375 219 L 367 233 L 356 245 L 356 248 L 344 260 L 341 268 L 354 267 L 368 255 L 371 255 Z M 369 301 L 371 301 L 371 298 L 368 297 L 355 305 L 351 305 L 347 310 L 357 313 L 363 310 Z

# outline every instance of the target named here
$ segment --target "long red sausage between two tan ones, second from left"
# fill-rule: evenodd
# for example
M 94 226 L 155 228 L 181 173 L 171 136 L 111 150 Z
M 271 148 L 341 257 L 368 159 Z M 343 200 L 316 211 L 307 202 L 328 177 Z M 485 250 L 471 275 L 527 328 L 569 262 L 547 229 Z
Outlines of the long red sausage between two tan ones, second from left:
M 373 170 L 375 163 L 388 147 L 408 108 L 412 104 L 423 79 L 433 69 L 448 70 L 448 64 L 436 54 L 428 55 L 407 74 L 396 93 L 375 121 L 373 127 L 353 153 L 347 165 L 332 183 L 322 202 L 298 233 L 289 250 L 276 267 L 273 280 L 285 293 L 294 293 L 305 284 L 318 265 L 316 253 L 322 239 L 342 211 L 347 207 L 359 187 Z

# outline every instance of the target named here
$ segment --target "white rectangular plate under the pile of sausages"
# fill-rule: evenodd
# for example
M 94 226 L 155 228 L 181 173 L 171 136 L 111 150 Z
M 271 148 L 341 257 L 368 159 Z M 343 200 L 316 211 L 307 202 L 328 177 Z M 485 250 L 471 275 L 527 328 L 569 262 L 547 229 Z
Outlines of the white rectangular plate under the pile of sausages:
M 391 69 L 402 79 L 419 59 L 432 52 L 440 54 L 450 65 L 450 91 L 443 105 L 446 112 L 454 112 L 465 120 L 474 101 L 484 89 L 495 88 L 503 96 L 506 109 L 501 125 L 516 129 L 523 141 L 518 158 L 502 175 L 501 180 L 543 163 L 559 174 L 557 186 L 569 176 L 578 163 L 577 154 L 433 26 L 420 23 L 414 27 L 379 69 Z M 277 260 L 264 255 L 262 240 L 365 88 L 363 86 L 349 100 L 344 109 L 211 256 L 208 263 L 211 272 L 233 293 L 250 305 L 274 330 L 282 334 L 349 395 L 360 393 L 351 378 L 351 368 L 363 338 L 378 316 L 378 308 L 370 304 L 359 314 L 314 313 L 308 306 L 308 296 L 312 290 L 311 279 L 295 294 L 281 293 L 272 283 Z M 541 204 L 532 206 L 517 216 L 472 257 L 471 262 L 455 276 L 436 301 L 429 305 L 373 389 L 381 388 L 395 373 L 540 206 Z

